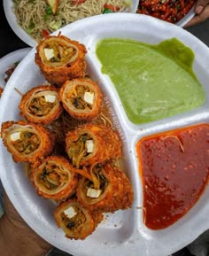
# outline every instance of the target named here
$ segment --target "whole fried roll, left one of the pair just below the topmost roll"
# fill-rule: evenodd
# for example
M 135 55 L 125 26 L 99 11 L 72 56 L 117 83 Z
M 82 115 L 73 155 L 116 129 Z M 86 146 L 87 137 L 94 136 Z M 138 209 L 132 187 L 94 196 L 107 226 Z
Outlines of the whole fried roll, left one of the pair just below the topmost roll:
M 19 110 L 30 122 L 49 124 L 58 119 L 63 111 L 58 100 L 58 89 L 44 85 L 29 89 L 20 101 Z

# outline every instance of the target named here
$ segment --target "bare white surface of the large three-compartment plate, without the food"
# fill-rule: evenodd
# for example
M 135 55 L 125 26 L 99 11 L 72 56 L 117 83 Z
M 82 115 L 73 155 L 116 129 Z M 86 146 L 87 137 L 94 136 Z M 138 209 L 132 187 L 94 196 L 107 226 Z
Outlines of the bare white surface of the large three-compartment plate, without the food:
M 138 171 L 138 159 L 135 145 L 144 136 L 166 130 L 187 127 L 209 121 L 209 50 L 194 35 L 181 27 L 138 14 L 115 13 L 112 15 L 91 17 L 74 22 L 61 29 L 62 35 L 85 44 L 88 73 L 91 79 L 99 82 L 104 94 L 104 101 L 112 112 L 112 120 L 120 132 L 123 142 L 123 155 L 126 156 L 125 167 L 135 190 L 135 202 L 131 209 L 107 214 L 96 231 L 84 241 L 67 239 L 58 229 L 53 218 L 55 205 L 36 195 L 33 186 L 24 174 L 22 166 L 12 161 L 11 155 L 1 144 L 0 175 L 4 188 L 12 204 L 17 208 L 27 224 L 35 232 L 61 250 L 74 255 L 121 255 L 166 256 L 190 244 L 205 229 L 209 228 L 209 190 L 203 195 L 180 221 L 167 229 L 153 231 L 143 224 L 143 189 Z M 194 73 L 205 90 L 205 104 L 163 120 L 135 125 L 128 120 L 120 98 L 110 79 L 101 73 L 101 65 L 96 56 L 96 44 L 104 38 L 118 37 L 135 39 L 143 43 L 156 44 L 169 38 L 177 38 L 195 52 Z M 24 78 L 24 79 L 23 79 Z M 43 76 L 35 66 L 35 49 L 19 64 L 1 99 L 0 120 L 19 120 L 21 92 L 42 84 Z M 6 110 L 9 111 L 6 111 Z M 111 249 L 111 250 L 109 250 Z

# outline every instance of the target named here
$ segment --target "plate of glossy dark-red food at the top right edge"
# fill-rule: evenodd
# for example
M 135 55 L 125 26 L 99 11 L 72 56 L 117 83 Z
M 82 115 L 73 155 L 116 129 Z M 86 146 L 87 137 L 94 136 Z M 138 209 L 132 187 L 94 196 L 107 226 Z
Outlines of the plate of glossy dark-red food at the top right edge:
M 141 0 L 137 13 L 183 27 L 195 15 L 195 0 Z

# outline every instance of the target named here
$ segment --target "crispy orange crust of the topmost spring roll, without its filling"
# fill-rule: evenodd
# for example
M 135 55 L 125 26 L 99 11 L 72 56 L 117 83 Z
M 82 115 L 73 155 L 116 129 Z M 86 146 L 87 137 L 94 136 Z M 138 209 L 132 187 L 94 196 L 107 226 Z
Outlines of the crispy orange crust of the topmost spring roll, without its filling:
M 43 63 L 42 58 L 40 56 L 40 49 L 43 46 L 44 41 L 49 38 L 60 38 L 65 40 L 68 43 L 74 44 L 79 52 L 77 58 L 71 65 L 65 66 L 48 66 Z M 62 84 L 67 80 L 72 80 L 78 77 L 84 77 L 86 74 L 86 61 L 85 61 L 85 54 L 87 50 L 85 46 L 77 41 L 72 41 L 64 35 L 57 35 L 57 36 L 47 36 L 42 41 L 38 43 L 36 46 L 36 53 L 35 53 L 35 63 L 39 66 L 43 76 L 47 81 L 49 81 L 53 85 L 62 86 Z

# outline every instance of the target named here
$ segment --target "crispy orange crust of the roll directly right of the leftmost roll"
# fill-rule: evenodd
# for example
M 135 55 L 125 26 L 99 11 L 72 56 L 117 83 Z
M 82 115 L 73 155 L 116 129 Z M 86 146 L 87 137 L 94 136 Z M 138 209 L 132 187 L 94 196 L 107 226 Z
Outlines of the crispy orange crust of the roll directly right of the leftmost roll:
M 82 134 L 89 134 L 96 138 L 97 148 L 86 159 L 81 159 L 81 166 L 91 166 L 108 159 L 121 157 L 121 142 L 118 134 L 104 125 L 86 124 L 66 134 L 66 152 L 70 145 L 78 140 Z M 69 156 L 69 154 L 68 154 Z M 69 156 L 71 158 L 71 156 Z

